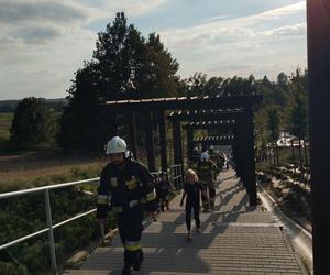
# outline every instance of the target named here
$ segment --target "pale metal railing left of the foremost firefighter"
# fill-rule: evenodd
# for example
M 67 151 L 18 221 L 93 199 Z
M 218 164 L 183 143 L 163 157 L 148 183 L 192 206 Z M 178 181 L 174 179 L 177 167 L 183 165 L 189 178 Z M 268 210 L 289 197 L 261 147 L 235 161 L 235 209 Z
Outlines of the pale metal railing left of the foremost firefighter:
M 55 252 L 55 243 L 54 243 L 54 229 L 58 228 L 61 226 L 64 226 L 64 224 L 66 224 L 70 221 L 77 220 L 81 217 L 85 217 L 87 215 L 90 215 L 90 213 L 96 211 L 96 208 L 92 209 L 92 210 L 79 213 L 77 216 L 74 216 L 73 218 L 69 218 L 69 219 L 64 220 L 62 222 L 58 222 L 56 224 L 53 224 L 50 190 L 65 188 L 65 187 L 69 187 L 69 186 L 76 186 L 76 185 L 80 185 L 80 184 L 88 184 L 88 183 L 96 183 L 97 184 L 99 182 L 99 179 L 100 179 L 99 177 L 96 177 L 96 178 L 77 180 L 77 182 L 72 182 L 72 183 L 50 185 L 50 186 L 43 186 L 43 187 L 31 188 L 31 189 L 25 189 L 25 190 L 0 194 L 0 200 L 1 200 L 1 199 L 7 199 L 7 198 L 23 196 L 23 195 L 26 195 L 26 194 L 44 193 L 45 211 L 46 211 L 46 218 L 47 218 L 47 228 L 42 229 L 40 231 L 36 231 L 34 233 L 31 233 L 29 235 L 24 235 L 20 239 L 11 241 L 11 242 L 1 244 L 0 245 L 0 251 L 4 250 L 4 249 L 8 249 L 8 248 L 10 248 L 14 244 L 26 241 L 26 240 L 29 240 L 33 237 L 36 237 L 36 235 L 48 232 L 48 244 L 50 244 L 50 253 L 51 253 L 50 255 L 51 255 L 52 270 L 53 270 L 53 273 L 57 274 L 56 252 Z

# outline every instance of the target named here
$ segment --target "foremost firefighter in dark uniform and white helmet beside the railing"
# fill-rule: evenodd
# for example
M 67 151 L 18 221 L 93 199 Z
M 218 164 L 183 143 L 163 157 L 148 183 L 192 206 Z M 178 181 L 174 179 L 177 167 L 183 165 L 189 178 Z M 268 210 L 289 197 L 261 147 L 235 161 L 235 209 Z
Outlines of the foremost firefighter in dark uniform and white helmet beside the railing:
M 117 213 L 118 230 L 124 246 L 122 275 L 139 271 L 143 261 L 141 234 L 144 212 L 157 210 L 152 177 L 145 166 L 127 155 L 127 143 L 119 136 L 107 145 L 110 163 L 102 169 L 98 189 L 97 218 L 105 223 L 107 212 Z M 110 207 L 109 207 L 110 201 Z

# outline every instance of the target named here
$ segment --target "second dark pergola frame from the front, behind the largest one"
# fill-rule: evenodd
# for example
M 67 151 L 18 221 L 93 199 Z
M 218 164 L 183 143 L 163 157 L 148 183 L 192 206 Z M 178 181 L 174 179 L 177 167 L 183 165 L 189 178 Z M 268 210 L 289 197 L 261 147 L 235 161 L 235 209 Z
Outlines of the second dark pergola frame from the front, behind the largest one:
M 251 109 L 249 111 L 249 108 L 231 107 L 195 111 L 173 111 L 168 116 L 168 119 L 173 122 L 187 122 L 184 128 L 187 131 L 188 158 L 191 157 L 196 143 L 202 144 L 202 147 L 210 145 L 231 145 L 233 157 L 235 160 L 237 175 L 241 177 L 250 195 L 250 201 L 256 204 L 255 179 L 252 180 L 254 177 L 255 164 L 254 150 L 251 148 L 251 144 L 254 142 L 252 136 L 253 122 L 251 116 Z M 201 129 L 218 130 L 218 132 L 221 132 L 221 135 L 218 138 L 202 136 L 200 140 L 196 140 L 194 138 L 194 131 Z M 251 160 L 251 154 L 253 154 L 253 162 L 248 161 Z

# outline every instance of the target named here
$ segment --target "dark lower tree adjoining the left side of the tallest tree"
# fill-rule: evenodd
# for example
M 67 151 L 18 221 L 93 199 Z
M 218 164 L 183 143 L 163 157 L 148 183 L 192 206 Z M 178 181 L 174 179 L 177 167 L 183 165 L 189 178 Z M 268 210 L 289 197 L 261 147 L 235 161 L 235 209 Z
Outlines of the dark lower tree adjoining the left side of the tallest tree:
M 68 90 L 68 105 L 59 121 L 57 139 L 65 150 L 90 152 L 106 142 L 98 79 L 99 72 L 95 63 L 85 63 L 85 67 L 76 73 L 76 79 Z

